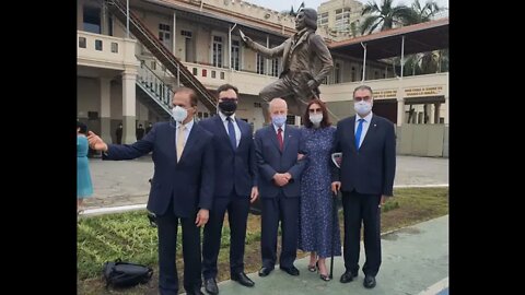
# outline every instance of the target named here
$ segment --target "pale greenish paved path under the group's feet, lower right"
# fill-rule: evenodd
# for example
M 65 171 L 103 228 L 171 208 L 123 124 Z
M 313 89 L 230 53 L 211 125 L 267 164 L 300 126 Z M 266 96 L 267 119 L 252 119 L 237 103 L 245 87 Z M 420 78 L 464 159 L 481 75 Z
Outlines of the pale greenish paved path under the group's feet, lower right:
M 345 271 L 341 257 L 334 261 L 334 280 L 330 282 L 324 282 L 318 274 L 307 271 L 310 258 L 306 257 L 294 263 L 301 271 L 299 276 L 290 276 L 276 266 L 276 270 L 266 278 L 257 273 L 248 274 L 255 282 L 253 288 L 232 281 L 221 282 L 220 294 L 448 294 L 448 215 L 384 234 L 382 248 L 383 263 L 376 276 L 377 285 L 372 290 L 363 286 L 364 274 L 361 270 L 354 281 L 347 284 L 339 282 Z M 326 263 L 329 268 L 329 259 Z M 364 248 L 361 244 L 359 264 L 362 267 L 363 263 Z

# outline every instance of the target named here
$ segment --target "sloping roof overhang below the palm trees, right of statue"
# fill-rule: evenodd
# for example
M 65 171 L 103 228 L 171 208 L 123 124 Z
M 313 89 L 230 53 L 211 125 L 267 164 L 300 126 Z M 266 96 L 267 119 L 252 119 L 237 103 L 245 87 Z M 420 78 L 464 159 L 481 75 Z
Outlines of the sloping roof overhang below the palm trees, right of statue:
M 335 42 L 328 48 L 334 52 L 362 59 L 363 44 L 366 45 L 366 59 L 400 57 L 402 36 L 405 55 L 448 48 L 448 17 Z

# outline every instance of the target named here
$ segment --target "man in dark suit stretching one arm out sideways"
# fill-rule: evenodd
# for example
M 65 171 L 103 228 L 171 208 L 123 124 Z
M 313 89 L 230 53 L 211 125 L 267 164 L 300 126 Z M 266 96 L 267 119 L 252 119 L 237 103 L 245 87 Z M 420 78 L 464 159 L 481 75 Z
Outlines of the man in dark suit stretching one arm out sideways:
M 195 123 L 197 95 L 182 87 L 173 96 L 173 119 L 153 126 L 133 144 L 107 145 L 90 132 L 90 145 L 104 151 L 103 158 L 131 160 L 153 151 L 154 175 L 148 210 L 156 214 L 159 233 L 159 292 L 178 293 L 175 264 L 177 226 L 183 228 L 184 288 L 200 291 L 200 226 L 208 222 L 213 201 L 213 135 Z

